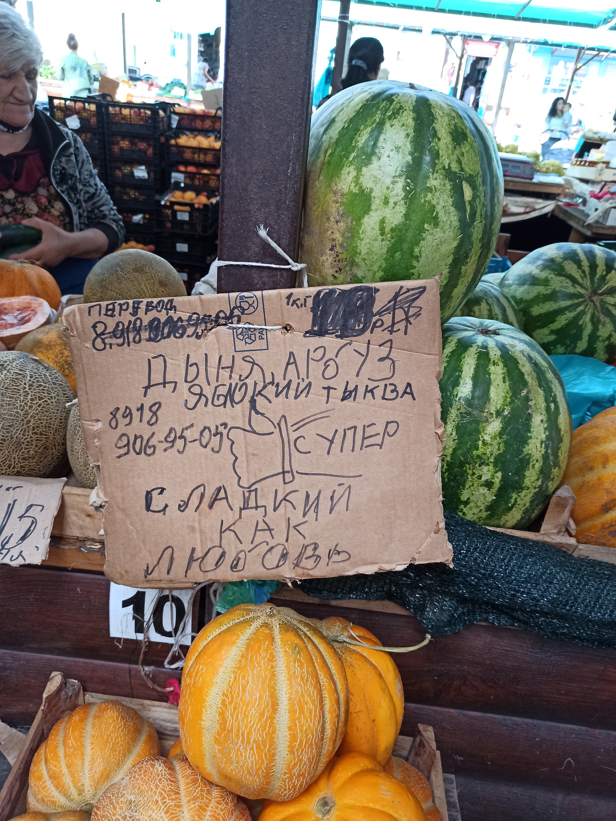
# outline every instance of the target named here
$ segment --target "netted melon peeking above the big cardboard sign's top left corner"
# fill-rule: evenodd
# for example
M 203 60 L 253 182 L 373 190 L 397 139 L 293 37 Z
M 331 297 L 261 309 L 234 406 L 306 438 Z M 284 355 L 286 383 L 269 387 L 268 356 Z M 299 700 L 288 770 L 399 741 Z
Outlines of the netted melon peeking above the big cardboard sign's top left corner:
M 137 249 L 103 257 L 84 283 L 84 302 L 160 300 L 170 296 L 186 296 L 176 269 L 166 259 Z

